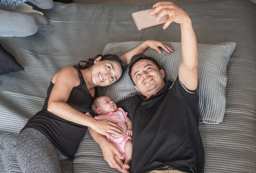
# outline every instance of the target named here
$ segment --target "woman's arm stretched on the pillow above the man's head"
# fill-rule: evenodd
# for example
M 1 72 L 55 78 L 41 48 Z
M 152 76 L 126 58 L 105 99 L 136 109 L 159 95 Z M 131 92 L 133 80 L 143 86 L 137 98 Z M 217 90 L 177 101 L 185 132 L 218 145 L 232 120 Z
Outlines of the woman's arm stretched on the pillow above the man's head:
M 124 62 L 125 65 L 128 65 L 132 59 L 132 57 L 136 54 L 143 53 L 147 48 L 155 49 L 159 54 L 161 54 L 161 50 L 158 47 L 166 50 L 168 53 L 173 52 L 173 48 L 163 44 L 161 41 L 155 40 L 147 40 L 144 41 L 142 44 L 137 46 L 135 49 L 128 51 L 127 53 L 123 54 L 120 59 Z

